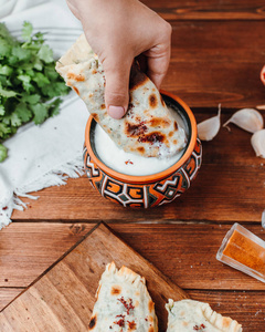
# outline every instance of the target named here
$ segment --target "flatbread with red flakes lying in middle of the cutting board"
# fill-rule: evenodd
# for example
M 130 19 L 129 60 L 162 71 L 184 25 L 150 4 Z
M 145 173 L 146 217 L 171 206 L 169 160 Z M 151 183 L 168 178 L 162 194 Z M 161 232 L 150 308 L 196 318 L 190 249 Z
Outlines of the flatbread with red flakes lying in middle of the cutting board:
M 114 262 L 107 264 L 88 325 L 93 332 L 157 332 L 157 317 L 144 277 Z

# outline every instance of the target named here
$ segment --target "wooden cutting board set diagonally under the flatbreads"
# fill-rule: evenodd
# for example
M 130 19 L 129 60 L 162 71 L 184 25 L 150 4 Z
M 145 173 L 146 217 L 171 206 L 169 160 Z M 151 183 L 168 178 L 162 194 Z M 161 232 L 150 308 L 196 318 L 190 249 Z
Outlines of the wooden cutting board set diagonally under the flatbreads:
M 159 331 L 166 331 L 167 300 L 181 300 L 187 294 L 103 222 L 3 309 L 0 331 L 87 331 L 98 281 L 112 261 L 118 268 L 125 264 L 146 278 L 156 303 Z

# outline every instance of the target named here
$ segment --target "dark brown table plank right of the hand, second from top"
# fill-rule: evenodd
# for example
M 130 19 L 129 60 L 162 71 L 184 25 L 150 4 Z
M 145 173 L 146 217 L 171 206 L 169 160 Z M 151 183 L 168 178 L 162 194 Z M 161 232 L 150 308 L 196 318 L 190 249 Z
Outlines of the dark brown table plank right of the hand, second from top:
M 172 51 L 162 87 L 192 107 L 264 104 L 263 22 L 171 22 Z M 244 33 L 242 33 L 244 31 Z

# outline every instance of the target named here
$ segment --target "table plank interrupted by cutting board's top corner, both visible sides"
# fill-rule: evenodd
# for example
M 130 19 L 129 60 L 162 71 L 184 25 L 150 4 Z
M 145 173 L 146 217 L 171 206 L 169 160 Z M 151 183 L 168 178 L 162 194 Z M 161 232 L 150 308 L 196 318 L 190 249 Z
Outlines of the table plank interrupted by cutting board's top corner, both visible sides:
M 15 222 L 0 232 L 0 287 L 28 287 L 95 224 Z M 112 229 L 182 289 L 265 290 L 265 284 L 215 259 L 231 225 L 112 224 Z M 247 229 L 265 240 L 261 226 Z M 56 231 L 55 231 L 56 230 Z M 72 238 L 65 243 L 65 238 Z M 15 243 L 15 246 L 14 246 Z M 38 245 L 36 245 L 38 243 Z M 155 245 L 153 245 L 155 243 Z

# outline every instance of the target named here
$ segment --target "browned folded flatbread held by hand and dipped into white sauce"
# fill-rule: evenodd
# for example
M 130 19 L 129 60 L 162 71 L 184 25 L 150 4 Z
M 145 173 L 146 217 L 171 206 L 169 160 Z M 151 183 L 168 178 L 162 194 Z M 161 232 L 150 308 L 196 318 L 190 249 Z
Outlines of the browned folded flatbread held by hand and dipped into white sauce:
M 128 112 L 121 120 L 114 120 L 107 114 L 104 69 L 84 34 L 57 61 L 56 71 L 125 152 L 145 157 L 170 157 L 184 148 L 184 129 L 167 108 L 156 85 L 136 64 L 130 73 Z

